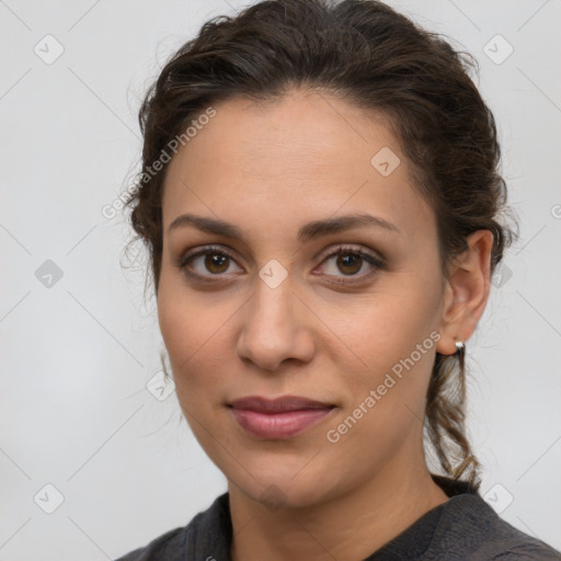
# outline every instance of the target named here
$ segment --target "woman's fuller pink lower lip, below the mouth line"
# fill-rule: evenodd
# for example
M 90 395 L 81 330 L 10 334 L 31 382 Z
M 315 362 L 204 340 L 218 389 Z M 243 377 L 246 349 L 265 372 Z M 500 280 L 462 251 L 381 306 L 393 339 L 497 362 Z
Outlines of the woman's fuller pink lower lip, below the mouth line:
M 333 408 L 324 408 L 286 411 L 284 413 L 259 413 L 256 411 L 232 409 L 232 413 L 238 424 L 251 436 L 289 438 L 317 425 L 332 410 Z

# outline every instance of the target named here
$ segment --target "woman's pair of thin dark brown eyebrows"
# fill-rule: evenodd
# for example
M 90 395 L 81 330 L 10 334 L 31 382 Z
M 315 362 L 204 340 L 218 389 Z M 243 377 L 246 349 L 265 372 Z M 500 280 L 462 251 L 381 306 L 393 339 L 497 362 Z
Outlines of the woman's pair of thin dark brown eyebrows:
M 185 226 L 193 226 L 206 233 L 238 239 L 247 243 L 243 232 L 238 226 L 217 218 L 208 218 L 192 214 L 178 216 L 168 228 L 168 233 Z M 376 226 L 388 231 L 402 233 L 396 225 L 388 222 L 383 218 L 368 214 L 352 214 L 340 216 L 337 218 L 328 218 L 324 220 L 313 220 L 308 222 L 298 230 L 298 240 L 300 242 L 306 242 L 320 238 L 321 236 L 339 233 L 351 230 L 352 228 L 365 226 Z

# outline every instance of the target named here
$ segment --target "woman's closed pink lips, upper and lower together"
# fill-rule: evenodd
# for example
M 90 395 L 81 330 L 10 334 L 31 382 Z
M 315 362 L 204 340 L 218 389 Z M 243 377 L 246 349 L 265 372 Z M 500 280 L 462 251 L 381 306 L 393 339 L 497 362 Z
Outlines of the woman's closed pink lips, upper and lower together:
M 228 404 L 241 428 L 257 438 L 285 439 L 308 431 L 335 405 L 298 396 L 267 399 L 250 396 Z

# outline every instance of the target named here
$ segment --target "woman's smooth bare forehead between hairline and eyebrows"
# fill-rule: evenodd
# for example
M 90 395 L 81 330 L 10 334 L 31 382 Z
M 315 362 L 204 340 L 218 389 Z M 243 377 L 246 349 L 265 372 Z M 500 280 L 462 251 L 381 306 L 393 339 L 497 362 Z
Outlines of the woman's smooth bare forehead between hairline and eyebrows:
M 411 236 L 432 226 L 432 209 L 413 187 L 383 115 L 302 91 L 213 107 L 216 115 L 170 162 L 164 230 L 181 211 L 196 210 L 286 227 L 368 209 Z

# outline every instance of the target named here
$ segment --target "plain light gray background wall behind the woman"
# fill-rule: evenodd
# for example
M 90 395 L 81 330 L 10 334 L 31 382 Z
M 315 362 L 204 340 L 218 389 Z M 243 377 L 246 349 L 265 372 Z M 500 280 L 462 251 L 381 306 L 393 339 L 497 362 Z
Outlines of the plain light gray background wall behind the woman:
M 561 549 L 561 2 L 390 3 L 481 65 L 522 239 L 468 342 L 469 426 L 482 494 Z M 121 267 L 128 226 L 102 208 L 138 169 L 146 87 L 204 21 L 237 5 L 0 0 L 2 561 L 113 559 L 226 490 L 175 393 L 159 401 L 146 388 L 162 348 L 154 301 L 144 305 L 144 263 Z M 65 49 L 50 65 L 34 51 L 56 54 L 47 34 Z M 483 51 L 496 34 L 514 48 L 500 65 Z M 36 276 L 47 260 L 62 272 L 50 287 Z M 64 495 L 53 514 L 46 484 Z

